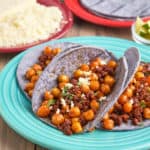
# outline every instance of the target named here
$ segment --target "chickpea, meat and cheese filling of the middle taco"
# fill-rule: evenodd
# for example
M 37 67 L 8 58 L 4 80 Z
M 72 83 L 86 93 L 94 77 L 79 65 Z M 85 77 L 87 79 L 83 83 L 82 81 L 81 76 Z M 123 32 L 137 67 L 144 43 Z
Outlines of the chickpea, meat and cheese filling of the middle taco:
M 71 77 L 59 74 L 57 85 L 45 91 L 36 114 L 49 118 L 51 124 L 67 135 L 83 132 L 83 127 L 95 118 L 101 101 L 115 84 L 117 62 L 105 62 L 99 57 L 81 64 Z

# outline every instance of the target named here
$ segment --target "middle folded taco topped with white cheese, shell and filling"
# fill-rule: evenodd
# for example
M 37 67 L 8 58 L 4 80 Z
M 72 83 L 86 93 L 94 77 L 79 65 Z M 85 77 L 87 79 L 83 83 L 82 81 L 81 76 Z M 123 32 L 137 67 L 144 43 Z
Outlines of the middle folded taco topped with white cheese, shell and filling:
M 125 57 L 117 60 L 107 50 L 83 46 L 59 54 L 51 61 L 35 86 L 33 112 L 67 135 L 91 130 L 87 127 L 116 86 L 127 77 Z M 114 93 L 113 93 L 114 95 Z

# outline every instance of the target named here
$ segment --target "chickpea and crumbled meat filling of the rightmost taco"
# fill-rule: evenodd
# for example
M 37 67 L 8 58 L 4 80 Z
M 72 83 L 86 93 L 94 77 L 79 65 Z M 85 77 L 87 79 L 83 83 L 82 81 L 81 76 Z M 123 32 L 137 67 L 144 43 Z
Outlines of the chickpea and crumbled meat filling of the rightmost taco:
M 129 86 L 119 97 L 115 105 L 105 114 L 102 127 L 115 130 L 123 123 L 135 126 L 150 119 L 150 64 L 141 63 Z M 125 126 L 120 128 L 125 130 Z

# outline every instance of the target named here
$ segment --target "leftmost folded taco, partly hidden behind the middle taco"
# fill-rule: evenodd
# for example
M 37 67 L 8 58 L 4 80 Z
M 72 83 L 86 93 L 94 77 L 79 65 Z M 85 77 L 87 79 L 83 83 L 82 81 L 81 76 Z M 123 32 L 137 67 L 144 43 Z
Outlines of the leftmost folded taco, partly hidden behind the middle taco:
M 54 43 L 34 49 L 22 58 L 17 68 L 17 80 L 20 88 L 31 99 L 34 86 L 43 70 L 61 51 L 81 45 L 75 43 Z

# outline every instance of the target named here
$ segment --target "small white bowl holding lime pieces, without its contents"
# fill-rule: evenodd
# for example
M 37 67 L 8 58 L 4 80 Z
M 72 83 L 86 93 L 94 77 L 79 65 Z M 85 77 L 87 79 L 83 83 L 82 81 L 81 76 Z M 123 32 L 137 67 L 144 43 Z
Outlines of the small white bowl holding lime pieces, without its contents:
M 135 23 L 131 26 L 132 38 L 136 43 L 150 45 L 150 40 L 145 39 L 135 32 Z

